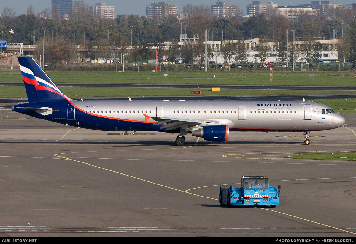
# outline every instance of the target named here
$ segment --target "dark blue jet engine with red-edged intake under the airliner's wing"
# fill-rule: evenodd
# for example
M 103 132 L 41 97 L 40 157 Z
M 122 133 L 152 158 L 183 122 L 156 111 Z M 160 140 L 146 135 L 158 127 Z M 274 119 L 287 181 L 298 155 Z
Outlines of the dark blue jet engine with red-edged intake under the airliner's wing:
M 210 140 L 211 142 L 225 142 L 229 140 L 229 128 L 224 124 L 204 126 L 197 131 L 193 131 L 192 136 L 203 137 L 204 140 Z

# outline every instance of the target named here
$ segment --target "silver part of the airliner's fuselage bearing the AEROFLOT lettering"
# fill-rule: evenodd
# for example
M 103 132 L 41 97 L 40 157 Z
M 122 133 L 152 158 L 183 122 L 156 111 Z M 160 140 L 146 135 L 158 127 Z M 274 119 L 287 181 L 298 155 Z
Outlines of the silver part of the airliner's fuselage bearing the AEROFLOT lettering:
M 84 100 L 73 101 L 73 104 L 87 114 L 114 120 L 152 124 L 157 118 L 187 121 L 184 128 L 187 131 L 207 124 L 228 125 L 230 131 L 322 131 L 345 123 L 345 119 L 330 107 L 308 101 Z M 191 121 L 201 124 L 192 126 Z

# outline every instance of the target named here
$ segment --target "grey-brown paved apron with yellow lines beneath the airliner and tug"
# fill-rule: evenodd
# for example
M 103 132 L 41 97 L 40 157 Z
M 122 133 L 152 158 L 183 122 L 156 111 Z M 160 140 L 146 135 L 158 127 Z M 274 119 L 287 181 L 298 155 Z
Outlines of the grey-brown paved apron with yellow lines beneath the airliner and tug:
M 17 119 L 0 120 L 1 237 L 355 237 L 356 161 L 285 157 L 355 152 L 356 114 L 310 145 L 302 132 L 231 132 L 183 147 L 176 134 L 7 115 Z M 218 185 L 242 175 L 280 184 L 279 206 L 221 207 Z

